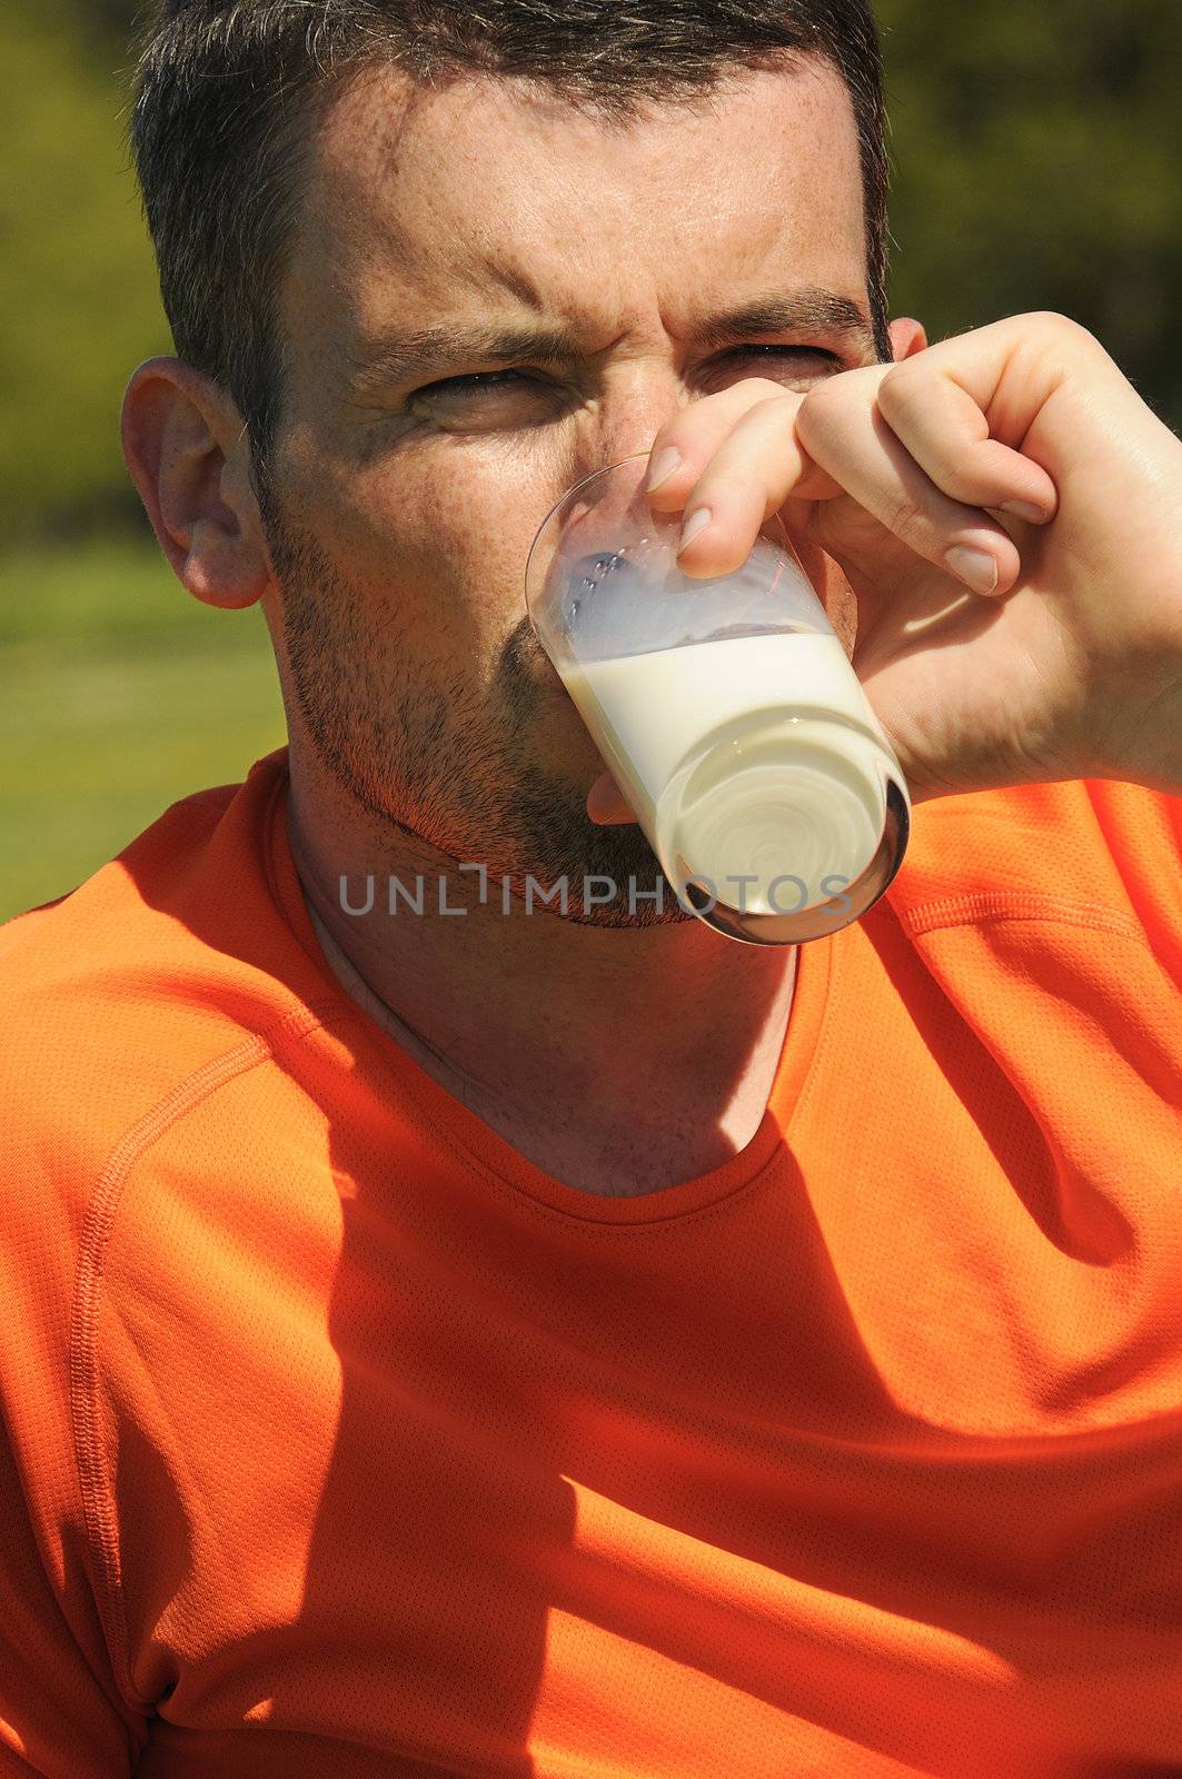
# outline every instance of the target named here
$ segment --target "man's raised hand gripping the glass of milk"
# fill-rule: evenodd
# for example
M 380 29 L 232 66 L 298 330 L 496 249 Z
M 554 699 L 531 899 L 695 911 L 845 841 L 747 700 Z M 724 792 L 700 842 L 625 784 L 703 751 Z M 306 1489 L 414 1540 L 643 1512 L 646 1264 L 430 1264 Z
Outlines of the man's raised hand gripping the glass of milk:
M 1086 329 L 1018 315 L 806 395 L 749 377 L 671 418 L 652 461 L 668 447 L 653 509 L 710 512 L 687 575 L 739 568 L 774 512 L 810 573 L 840 568 L 913 802 L 1182 793 L 1182 443 Z M 607 776 L 587 813 L 632 818 Z

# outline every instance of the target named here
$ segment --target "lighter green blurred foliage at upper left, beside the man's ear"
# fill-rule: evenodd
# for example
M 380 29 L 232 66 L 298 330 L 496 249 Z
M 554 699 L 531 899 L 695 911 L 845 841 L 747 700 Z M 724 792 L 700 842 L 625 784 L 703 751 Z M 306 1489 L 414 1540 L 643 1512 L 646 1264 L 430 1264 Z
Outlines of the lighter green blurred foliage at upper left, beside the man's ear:
M 123 388 L 171 350 L 121 135 L 126 44 L 57 0 L 4 0 L 0 41 L 0 535 L 126 525 Z

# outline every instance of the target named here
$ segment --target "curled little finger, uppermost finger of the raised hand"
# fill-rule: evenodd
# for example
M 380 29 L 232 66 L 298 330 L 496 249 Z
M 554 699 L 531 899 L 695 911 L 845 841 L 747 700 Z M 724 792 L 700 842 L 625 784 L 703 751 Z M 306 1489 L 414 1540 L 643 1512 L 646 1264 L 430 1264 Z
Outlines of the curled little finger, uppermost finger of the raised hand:
M 1054 518 L 1059 493 L 1047 471 L 990 438 L 990 422 L 943 368 L 917 354 L 888 370 L 878 409 L 935 486 L 970 507 L 997 507 L 1027 525 Z

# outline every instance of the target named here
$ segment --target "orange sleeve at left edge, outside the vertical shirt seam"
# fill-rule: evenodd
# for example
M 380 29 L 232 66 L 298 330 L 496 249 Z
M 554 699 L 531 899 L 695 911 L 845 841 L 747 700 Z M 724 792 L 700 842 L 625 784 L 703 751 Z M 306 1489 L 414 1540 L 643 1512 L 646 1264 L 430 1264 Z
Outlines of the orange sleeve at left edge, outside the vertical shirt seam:
M 85 1009 L 50 1018 L 52 959 L 30 943 L 41 920 L 0 932 L 0 1779 L 119 1779 L 150 1710 L 110 1653 L 112 1564 L 85 1512 L 71 1340 L 107 1137 L 69 1076 Z

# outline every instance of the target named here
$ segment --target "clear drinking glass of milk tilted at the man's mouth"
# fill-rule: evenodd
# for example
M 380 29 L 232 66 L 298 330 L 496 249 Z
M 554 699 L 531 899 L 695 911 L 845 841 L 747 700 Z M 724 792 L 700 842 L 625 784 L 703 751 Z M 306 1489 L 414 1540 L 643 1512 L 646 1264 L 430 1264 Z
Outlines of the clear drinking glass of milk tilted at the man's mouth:
M 828 938 L 906 852 L 890 737 L 781 521 L 733 575 L 691 580 L 646 466 L 625 457 L 550 511 L 530 623 L 682 904 L 749 945 Z

